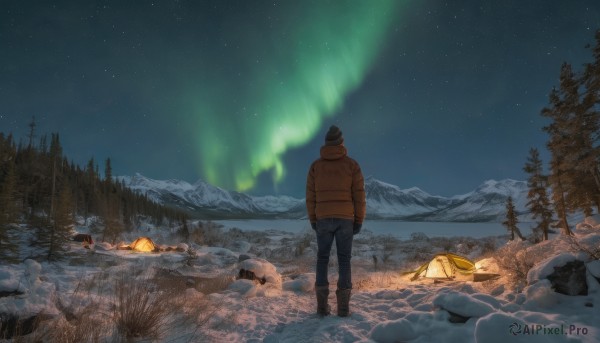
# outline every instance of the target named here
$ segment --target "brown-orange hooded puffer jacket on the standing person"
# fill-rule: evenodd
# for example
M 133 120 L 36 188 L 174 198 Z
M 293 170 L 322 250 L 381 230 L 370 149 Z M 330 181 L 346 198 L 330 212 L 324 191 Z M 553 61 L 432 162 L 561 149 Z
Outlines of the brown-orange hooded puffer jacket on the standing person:
M 311 223 L 322 218 L 365 219 L 365 182 L 358 163 L 343 145 L 321 147 L 306 179 L 306 210 Z

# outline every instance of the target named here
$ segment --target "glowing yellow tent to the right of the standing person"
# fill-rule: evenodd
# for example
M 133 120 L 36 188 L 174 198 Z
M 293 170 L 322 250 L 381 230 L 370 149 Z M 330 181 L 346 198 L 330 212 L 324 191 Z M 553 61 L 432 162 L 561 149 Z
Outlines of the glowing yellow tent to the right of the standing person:
M 475 272 L 475 263 L 468 258 L 452 253 L 441 253 L 419 267 L 411 280 L 414 281 L 419 277 L 454 279 L 457 275 L 471 275 L 473 272 Z

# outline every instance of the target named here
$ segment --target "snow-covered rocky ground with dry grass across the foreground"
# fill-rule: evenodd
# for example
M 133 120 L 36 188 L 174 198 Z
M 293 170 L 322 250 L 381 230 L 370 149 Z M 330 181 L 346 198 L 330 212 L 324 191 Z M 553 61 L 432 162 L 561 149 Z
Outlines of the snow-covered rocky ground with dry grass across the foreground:
M 99 341 L 117 341 L 131 325 L 119 322 L 132 316 L 124 309 L 142 305 L 147 306 L 142 312 L 161 318 L 152 328 L 131 333 L 139 340 L 155 329 L 155 337 L 147 341 L 600 341 L 600 262 L 598 256 L 590 256 L 600 251 L 600 226 L 591 219 L 578 225 L 577 244 L 557 235 L 537 245 L 507 242 L 506 236 L 454 234 L 415 234 L 399 240 L 365 230 L 355 237 L 354 289 L 347 318 L 315 314 L 316 241 L 306 223 L 295 230 L 279 227 L 281 223 L 254 223 L 254 230 L 240 225 L 230 230 L 231 223 L 221 224 L 227 226 L 192 232 L 193 237 L 203 233 L 205 241 L 210 238 L 210 245 L 181 242 L 174 231 L 143 225 L 128 234 L 127 242 L 149 236 L 163 250 L 180 249 L 140 253 L 116 250 L 119 244 L 97 242 L 86 249 L 73 242 L 61 262 L 26 259 L 1 265 L 0 318 L 43 313 L 45 320 L 36 332 L 42 335 L 47 328 L 45 341 L 64 341 L 81 327 Z M 218 237 L 210 236 L 215 233 Z M 412 275 L 404 274 L 441 251 L 467 256 L 477 262 L 479 272 L 501 276 L 484 282 L 410 281 Z M 554 267 L 575 260 L 585 263 L 587 295 L 556 293 L 549 275 Z M 333 256 L 333 313 L 336 267 Z M 264 283 L 236 279 L 240 269 L 252 271 Z

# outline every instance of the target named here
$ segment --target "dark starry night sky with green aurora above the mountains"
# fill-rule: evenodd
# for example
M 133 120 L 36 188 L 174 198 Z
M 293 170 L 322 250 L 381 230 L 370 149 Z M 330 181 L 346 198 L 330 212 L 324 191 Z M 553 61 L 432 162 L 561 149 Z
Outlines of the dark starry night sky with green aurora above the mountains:
M 600 1 L 0 1 L 0 132 L 114 175 L 304 196 L 338 125 L 365 176 L 524 180 Z

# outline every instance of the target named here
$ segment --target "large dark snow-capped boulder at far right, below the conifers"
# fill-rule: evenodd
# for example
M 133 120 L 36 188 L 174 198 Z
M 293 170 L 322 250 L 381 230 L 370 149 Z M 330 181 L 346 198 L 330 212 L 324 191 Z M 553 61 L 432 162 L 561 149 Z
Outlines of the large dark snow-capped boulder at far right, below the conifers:
M 548 275 L 554 291 L 566 295 L 587 295 L 585 263 L 579 260 L 568 262 L 562 267 L 554 267 Z

